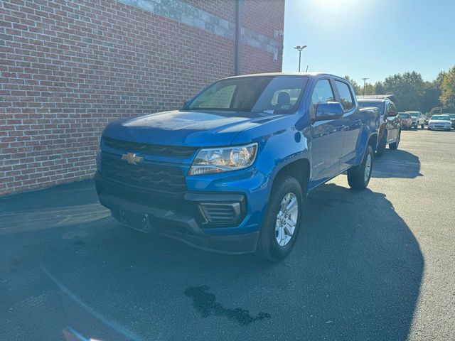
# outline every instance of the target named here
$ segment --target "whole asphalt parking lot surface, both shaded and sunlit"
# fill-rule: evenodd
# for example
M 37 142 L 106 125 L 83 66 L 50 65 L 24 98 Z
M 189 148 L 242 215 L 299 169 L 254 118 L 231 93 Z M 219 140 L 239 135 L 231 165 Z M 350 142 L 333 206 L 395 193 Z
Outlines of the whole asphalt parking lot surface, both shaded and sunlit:
M 403 131 L 276 264 L 126 229 L 90 180 L 2 197 L 0 339 L 455 340 L 454 160 L 455 131 Z

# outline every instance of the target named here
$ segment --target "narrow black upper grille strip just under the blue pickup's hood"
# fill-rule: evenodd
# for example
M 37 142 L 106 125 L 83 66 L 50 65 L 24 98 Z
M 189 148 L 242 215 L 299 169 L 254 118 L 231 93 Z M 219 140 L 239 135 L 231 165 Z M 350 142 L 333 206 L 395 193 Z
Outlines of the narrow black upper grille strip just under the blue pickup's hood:
M 158 144 L 139 144 L 137 142 L 122 141 L 103 137 L 102 142 L 109 148 L 146 155 L 172 156 L 176 158 L 189 158 L 196 152 L 197 147 L 188 146 L 161 146 Z

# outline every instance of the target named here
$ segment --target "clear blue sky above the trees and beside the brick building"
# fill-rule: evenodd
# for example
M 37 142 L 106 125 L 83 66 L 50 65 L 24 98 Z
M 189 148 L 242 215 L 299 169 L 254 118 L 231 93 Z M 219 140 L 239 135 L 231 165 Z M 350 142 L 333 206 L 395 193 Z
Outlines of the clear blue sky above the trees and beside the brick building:
M 455 65 L 455 0 L 286 0 L 283 71 L 349 75 L 359 84 Z

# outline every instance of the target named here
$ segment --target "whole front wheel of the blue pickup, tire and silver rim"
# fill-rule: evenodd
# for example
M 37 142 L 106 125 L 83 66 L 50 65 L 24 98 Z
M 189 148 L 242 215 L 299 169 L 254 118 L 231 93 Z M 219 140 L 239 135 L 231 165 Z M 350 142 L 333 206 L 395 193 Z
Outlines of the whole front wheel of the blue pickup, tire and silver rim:
M 259 231 L 256 254 L 269 261 L 284 259 L 296 242 L 304 211 L 299 181 L 288 175 L 274 180 L 269 207 Z

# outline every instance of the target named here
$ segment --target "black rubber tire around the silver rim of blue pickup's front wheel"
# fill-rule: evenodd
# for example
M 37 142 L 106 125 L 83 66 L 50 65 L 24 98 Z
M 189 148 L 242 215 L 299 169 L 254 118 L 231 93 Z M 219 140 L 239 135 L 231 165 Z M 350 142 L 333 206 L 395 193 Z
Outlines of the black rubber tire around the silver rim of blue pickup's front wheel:
M 284 229 L 284 227 L 279 227 L 279 215 L 282 212 L 282 204 L 287 197 L 287 195 L 294 195 L 297 205 L 297 212 L 296 216 L 293 220 L 296 220 L 296 224 L 294 227 L 294 231 L 290 236 L 289 240 L 280 239 L 280 232 L 282 236 L 285 238 L 289 237 L 287 233 L 289 232 L 288 229 Z M 279 261 L 280 259 L 284 259 L 289 252 L 291 251 L 292 247 L 296 242 L 297 235 L 299 234 L 299 230 L 302 224 L 302 217 L 304 215 L 304 195 L 302 193 L 301 185 L 296 178 L 292 178 L 288 175 L 279 175 L 274 180 L 274 185 L 272 188 L 272 193 L 270 193 L 269 197 L 269 205 L 267 207 L 267 212 L 265 213 L 264 222 L 262 223 L 262 227 L 259 230 L 259 238 L 257 239 L 257 246 L 256 246 L 256 255 L 267 259 L 269 261 Z M 286 203 L 284 202 L 284 205 Z M 289 204 L 288 204 L 289 205 Z M 283 206 L 284 207 L 284 206 Z M 284 219 L 284 215 L 281 215 Z M 291 217 L 289 217 L 291 219 Z M 284 219 L 285 220 L 285 219 Z M 278 227 L 277 227 L 278 224 Z M 289 225 L 283 225 L 289 226 Z M 284 234 L 283 234 L 284 233 Z

